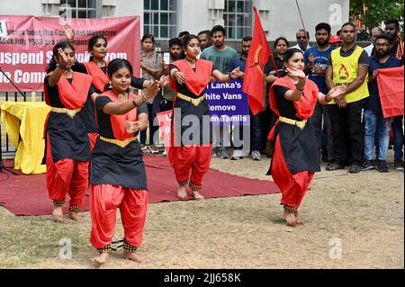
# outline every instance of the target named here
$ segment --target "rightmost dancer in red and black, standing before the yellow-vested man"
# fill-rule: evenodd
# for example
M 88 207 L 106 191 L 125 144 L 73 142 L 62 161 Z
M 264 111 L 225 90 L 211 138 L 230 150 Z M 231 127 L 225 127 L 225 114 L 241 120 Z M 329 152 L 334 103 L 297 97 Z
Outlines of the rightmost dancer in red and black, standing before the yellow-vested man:
M 289 225 L 302 224 L 297 219 L 298 208 L 315 172 L 320 171 L 320 152 L 311 124 L 307 124 L 317 101 L 329 103 L 346 90 L 334 87 L 327 95 L 305 77 L 304 58 L 300 49 L 288 49 L 284 55 L 287 76 L 270 88 L 270 107 L 278 120 L 269 139 L 275 140 L 275 153 L 268 175 L 282 193 L 284 219 Z

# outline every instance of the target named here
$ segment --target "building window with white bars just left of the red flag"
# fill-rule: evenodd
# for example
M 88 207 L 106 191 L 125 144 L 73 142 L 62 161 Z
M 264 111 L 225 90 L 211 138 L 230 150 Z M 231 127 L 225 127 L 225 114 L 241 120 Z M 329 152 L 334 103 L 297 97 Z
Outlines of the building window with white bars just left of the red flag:
M 252 0 L 225 0 L 223 20 L 228 39 L 251 36 L 252 5 Z

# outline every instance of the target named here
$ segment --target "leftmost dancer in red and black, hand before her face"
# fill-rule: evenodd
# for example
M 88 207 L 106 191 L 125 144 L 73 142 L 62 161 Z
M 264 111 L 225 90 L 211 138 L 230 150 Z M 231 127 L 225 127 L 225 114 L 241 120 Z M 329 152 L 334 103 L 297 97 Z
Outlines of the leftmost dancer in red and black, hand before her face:
M 62 206 L 70 196 L 69 218 L 80 220 L 88 184 L 89 139 L 82 114 L 87 98 L 95 98 L 92 77 L 71 70 L 75 49 L 67 42 L 53 48 L 45 77 L 45 101 L 51 106 L 45 126 L 47 188 L 54 202 L 53 217 L 63 221 Z

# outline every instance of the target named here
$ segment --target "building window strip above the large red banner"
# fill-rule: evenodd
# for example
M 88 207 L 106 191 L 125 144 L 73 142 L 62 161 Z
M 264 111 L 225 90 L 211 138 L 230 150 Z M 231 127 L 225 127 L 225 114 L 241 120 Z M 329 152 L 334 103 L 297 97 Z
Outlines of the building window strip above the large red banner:
M 96 0 L 60 0 L 59 15 L 64 14 L 72 18 L 96 18 L 95 2 Z

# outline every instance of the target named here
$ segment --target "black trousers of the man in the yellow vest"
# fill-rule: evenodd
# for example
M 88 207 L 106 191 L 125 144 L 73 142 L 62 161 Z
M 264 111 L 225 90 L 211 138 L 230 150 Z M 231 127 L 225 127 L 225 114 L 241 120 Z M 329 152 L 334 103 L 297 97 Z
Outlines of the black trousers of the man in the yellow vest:
M 347 146 L 350 147 L 350 163 L 359 165 L 363 157 L 362 108 L 364 100 L 347 103 L 340 109 L 338 104 L 329 104 L 333 154 L 338 165 L 344 166 L 347 159 Z M 348 136 L 347 136 L 348 134 Z

